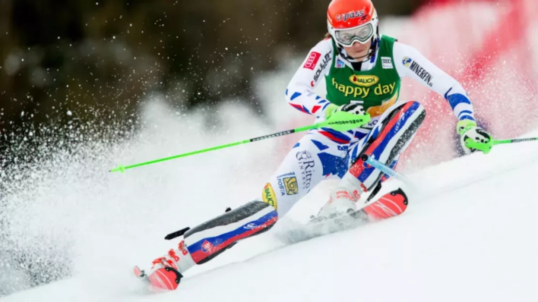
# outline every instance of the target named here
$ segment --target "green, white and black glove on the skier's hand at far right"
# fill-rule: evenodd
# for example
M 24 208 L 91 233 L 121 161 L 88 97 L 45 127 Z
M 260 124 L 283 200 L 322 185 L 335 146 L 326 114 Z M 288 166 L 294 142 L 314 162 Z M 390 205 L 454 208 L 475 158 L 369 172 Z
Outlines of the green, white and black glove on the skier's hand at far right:
M 491 150 L 491 134 L 476 125 L 476 121 L 462 119 L 456 126 L 465 154 L 470 154 L 476 150 L 487 154 Z

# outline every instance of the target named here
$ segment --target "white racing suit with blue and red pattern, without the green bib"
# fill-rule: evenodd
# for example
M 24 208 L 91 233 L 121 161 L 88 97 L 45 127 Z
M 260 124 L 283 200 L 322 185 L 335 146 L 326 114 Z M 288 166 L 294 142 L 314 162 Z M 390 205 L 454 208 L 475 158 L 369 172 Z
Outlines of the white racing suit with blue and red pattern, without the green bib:
M 324 82 L 325 75 L 329 72 L 332 62 L 332 52 L 334 49 L 330 39 L 319 42 L 310 50 L 301 67 L 296 71 L 286 90 L 286 99 L 295 109 L 318 117 L 317 121 L 324 120 L 324 110 L 329 104 L 328 100 L 318 96 L 314 88 L 320 82 Z M 320 58 L 312 66 L 312 54 Z M 337 54 L 337 63 L 346 64 L 351 67 L 351 63 L 345 59 L 345 52 L 340 49 Z M 321 58 L 328 59 L 322 60 Z M 376 64 L 376 56 L 372 60 L 362 62 L 360 70 L 372 69 Z M 421 70 L 411 69 L 405 65 L 405 61 L 412 58 L 414 62 L 422 67 Z M 443 70 L 431 63 L 426 57 L 415 48 L 395 42 L 393 47 L 394 66 L 402 77 L 410 77 L 422 83 L 429 89 L 442 95 L 448 100 L 454 114 L 458 119 L 475 120 L 473 107 L 462 86 Z M 308 68 L 306 68 L 308 67 Z M 316 74 L 318 76 L 316 76 Z M 398 113 L 394 113 L 398 111 Z M 414 135 L 416 124 L 420 124 L 423 117 L 424 108 L 417 102 L 399 100 L 389 107 L 381 116 L 375 117 L 368 125 L 348 132 L 338 132 L 330 128 L 312 130 L 296 143 L 291 152 L 285 157 L 279 168 L 274 172 L 269 180 L 271 188 L 274 190 L 277 211 L 279 217 L 285 215 L 301 197 L 305 196 L 314 186 L 328 177 L 342 178 L 357 160 L 357 156 L 362 153 L 370 153 L 374 158 L 385 162 L 387 166 L 394 168 L 399 155 L 405 150 Z M 387 118 L 397 120 L 392 123 Z M 317 122 L 316 121 L 316 122 Z M 415 126 L 412 126 L 415 123 Z M 390 128 L 386 128 L 388 127 Z M 381 129 L 385 131 L 381 133 Z M 411 129 L 409 130 L 409 127 Z M 412 132 L 407 133 L 406 132 Z M 411 137 L 404 137 L 404 146 L 398 146 L 397 142 L 406 134 Z M 368 147 L 369 140 L 376 140 L 375 146 Z M 308 157 L 308 158 L 307 158 Z M 390 158 L 390 161 L 387 159 Z M 361 165 L 363 166 L 363 165 Z M 373 168 L 361 167 L 361 171 L 355 177 L 362 184 L 363 191 L 369 190 L 377 181 L 383 177 L 381 172 Z M 296 182 L 296 183 L 295 183 Z M 266 185 L 265 188 L 267 188 Z M 267 189 L 263 197 L 267 195 Z

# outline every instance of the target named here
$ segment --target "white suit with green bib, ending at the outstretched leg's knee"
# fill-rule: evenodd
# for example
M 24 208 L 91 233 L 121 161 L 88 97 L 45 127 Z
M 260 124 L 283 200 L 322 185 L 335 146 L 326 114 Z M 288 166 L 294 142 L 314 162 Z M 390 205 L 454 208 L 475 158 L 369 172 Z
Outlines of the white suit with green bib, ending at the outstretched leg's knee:
M 454 78 L 411 46 L 387 36 L 381 36 L 379 42 L 377 52 L 370 61 L 360 64 L 358 71 L 344 58 L 343 49 L 338 49 L 331 39 L 322 40 L 310 50 L 289 82 L 288 103 L 297 110 L 314 114 L 316 122 L 324 120 L 324 110 L 330 103 L 358 102 L 372 119 L 369 124 L 348 132 L 330 128 L 312 130 L 295 144 L 262 193 L 264 201 L 274 199 L 279 217 L 323 179 L 342 178 L 371 139 L 378 140 L 372 150 L 376 159 L 386 161 L 393 157 L 391 162 L 386 162 L 387 166 L 397 164 L 398 156 L 411 139 L 406 146 L 398 148 L 397 154 L 390 156 L 396 142 L 424 111 L 417 102 L 398 100 L 402 77 L 411 77 L 442 95 L 458 119 L 475 119 L 466 92 Z M 314 92 L 322 81 L 327 85 L 326 97 Z M 387 119 L 397 109 L 401 111 L 400 119 L 397 123 L 388 123 Z M 385 136 L 379 137 L 385 125 L 391 126 L 392 131 L 384 131 Z M 364 169 L 357 178 L 363 190 L 368 190 L 383 177 L 380 174 L 377 169 Z

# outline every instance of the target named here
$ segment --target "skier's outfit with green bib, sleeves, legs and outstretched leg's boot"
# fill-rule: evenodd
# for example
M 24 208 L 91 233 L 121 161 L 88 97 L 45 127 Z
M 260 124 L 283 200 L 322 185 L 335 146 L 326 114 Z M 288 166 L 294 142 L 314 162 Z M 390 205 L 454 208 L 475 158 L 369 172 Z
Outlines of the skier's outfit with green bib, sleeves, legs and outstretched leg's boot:
M 475 120 L 462 86 L 415 48 L 385 35 L 374 43 L 378 47 L 369 61 L 352 62 L 332 39 L 318 42 L 285 92 L 291 106 L 313 114 L 317 121 L 325 119 L 331 103 L 355 103 L 370 114 L 370 122 L 347 132 L 309 131 L 286 155 L 258 200 L 189 229 L 178 248 L 153 261 L 150 279 L 161 281 L 157 274 L 173 272 L 175 282 L 166 288 L 175 289 L 187 269 L 211 260 L 239 240 L 267 231 L 323 179 L 352 179 L 362 191 L 383 181 L 385 175 L 365 165 L 359 155 L 394 167 L 426 114 L 421 104 L 398 99 L 402 77 L 411 77 L 442 95 L 459 120 Z M 325 97 L 314 92 L 323 81 Z

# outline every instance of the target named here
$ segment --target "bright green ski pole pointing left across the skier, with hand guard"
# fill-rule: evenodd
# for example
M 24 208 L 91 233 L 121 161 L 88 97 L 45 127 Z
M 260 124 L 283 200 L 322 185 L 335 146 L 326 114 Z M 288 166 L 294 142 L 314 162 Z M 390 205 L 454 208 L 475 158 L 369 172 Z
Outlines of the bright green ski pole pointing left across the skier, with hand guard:
M 278 136 L 288 135 L 288 134 L 292 134 L 292 133 L 298 133 L 298 132 L 302 132 L 302 131 L 306 131 L 306 130 L 311 130 L 311 129 L 314 129 L 314 128 L 328 127 L 328 128 L 332 128 L 332 129 L 334 129 L 336 131 L 343 132 L 343 131 L 351 130 L 353 128 L 360 127 L 360 126 L 368 123 L 369 121 L 370 121 L 370 114 L 364 114 L 364 115 L 359 116 L 357 114 L 353 114 L 353 113 L 349 113 L 349 112 L 345 112 L 345 111 L 338 111 L 338 112 L 333 113 L 329 120 L 322 121 L 321 123 L 316 123 L 314 125 L 304 126 L 304 127 L 291 129 L 291 130 L 286 130 L 286 131 L 281 131 L 281 132 L 277 132 L 277 133 L 273 133 L 273 134 L 259 136 L 257 138 L 253 138 L 253 139 L 247 139 L 247 140 L 242 140 L 242 141 L 237 141 L 237 142 L 232 142 L 232 143 L 226 143 L 225 145 L 221 145 L 221 146 L 216 146 L 216 147 L 211 147 L 211 148 L 207 148 L 207 149 L 201 149 L 201 150 L 197 150 L 197 151 L 193 151 L 193 152 L 183 153 L 183 154 L 179 154 L 179 155 L 169 156 L 169 157 L 165 157 L 165 158 L 157 159 L 157 160 L 153 160 L 153 161 L 141 162 L 141 163 L 137 163 L 137 164 L 132 164 L 130 166 L 123 166 L 123 165 L 120 164 L 117 168 L 109 170 L 109 172 L 117 172 L 117 171 L 119 171 L 119 172 L 123 173 L 123 172 L 125 172 L 125 170 L 140 167 L 140 166 L 146 166 L 147 164 L 152 164 L 152 163 L 158 163 L 158 162 L 178 159 L 179 157 L 186 157 L 186 156 L 200 154 L 200 153 L 209 152 L 209 151 L 213 151 L 213 150 L 218 150 L 218 149 L 228 148 L 228 147 L 232 147 L 232 146 L 242 145 L 244 143 L 276 138 Z

